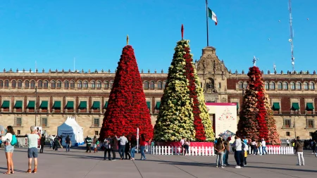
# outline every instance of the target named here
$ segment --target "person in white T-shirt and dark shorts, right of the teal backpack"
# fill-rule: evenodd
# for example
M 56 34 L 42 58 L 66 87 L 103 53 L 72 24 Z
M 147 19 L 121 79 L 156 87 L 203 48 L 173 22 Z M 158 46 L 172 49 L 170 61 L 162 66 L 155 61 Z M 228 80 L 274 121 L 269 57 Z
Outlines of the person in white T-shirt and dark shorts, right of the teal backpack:
M 35 126 L 30 127 L 31 134 L 27 134 L 27 158 L 29 158 L 28 166 L 26 173 L 37 173 L 37 141 L 38 139 L 41 139 L 39 136 L 39 133 L 37 132 L 37 129 Z M 34 170 L 31 171 L 32 168 L 32 159 L 34 158 Z

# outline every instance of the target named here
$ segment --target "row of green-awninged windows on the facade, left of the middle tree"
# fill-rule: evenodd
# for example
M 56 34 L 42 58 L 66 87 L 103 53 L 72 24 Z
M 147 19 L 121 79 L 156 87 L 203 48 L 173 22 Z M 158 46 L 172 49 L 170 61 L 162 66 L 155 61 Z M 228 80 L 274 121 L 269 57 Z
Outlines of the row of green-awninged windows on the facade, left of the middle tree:
M 161 102 L 157 101 L 155 109 L 159 110 L 161 105 Z M 103 106 L 101 106 L 101 101 L 93 101 L 92 106 L 88 109 L 93 109 L 93 110 L 100 110 L 102 108 L 106 109 L 108 107 L 108 101 L 104 103 Z M 3 101 L 1 104 L 1 108 L 4 108 L 4 111 L 8 112 L 10 109 L 10 101 Z M 13 108 L 15 108 L 17 111 L 22 111 L 22 108 L 29 109 L 29 111 L 35 111 L 35 101 L 28 101 L 27 106 L 23 107 L 23 101 L 15 101 Z M 61 110 L 62 105 L 61 101 L 54 101 L 53 106 L 51 109 L 54 110 Z M 80 110 L 87 110 L 87 101 L 80 101 L 77 107 L 74 107 L 74 101 L 66 101 L 66 105 L 64 109 L 68 110 L 74 110 L 74 108 L 80 109 Z M 151 109 L 151 102 L 147 101 L 147 108 Z M 39 108 L 42 110 L 48 110 L 49 109 L 49 101 L 40 101 L 39 102 Z

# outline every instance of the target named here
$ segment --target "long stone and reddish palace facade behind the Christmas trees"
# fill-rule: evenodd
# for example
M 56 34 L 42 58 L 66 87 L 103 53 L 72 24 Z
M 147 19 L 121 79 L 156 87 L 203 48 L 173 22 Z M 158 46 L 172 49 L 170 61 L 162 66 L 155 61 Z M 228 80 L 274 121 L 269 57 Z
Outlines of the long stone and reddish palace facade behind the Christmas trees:
M 228 70 L 211 46 L 202 49 L 202 56 L 195 65 L 206 102 L 237 103 L 239 113 L 249 79 L 247 71 Z M 20 135 L 30 132 L 32 125 L 42 126 L 48 134 L 56 134 L 66 117 L 74 116 L 84 128 L 85 136 L 98 135 L 114 77 L 115 73 L 110 70 L 4 70 L 0 72 L 0 125 L 12 125 Z M 154 125 L 167 73 L 142 70 L 141 77 Z M 263 80 L 280 138 L 309 139 L 316 131 L 316 72 L 268 72 L 263 74 Z

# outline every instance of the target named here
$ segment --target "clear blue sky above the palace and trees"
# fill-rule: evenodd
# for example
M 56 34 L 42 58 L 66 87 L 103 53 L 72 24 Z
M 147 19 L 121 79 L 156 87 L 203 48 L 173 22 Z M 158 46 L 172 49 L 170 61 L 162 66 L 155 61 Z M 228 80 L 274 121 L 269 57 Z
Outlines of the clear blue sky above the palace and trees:
M 228 70 L 292 70 L 288 0 L 209 0 L 209 46 Z M 317 1 L 292 0 L 295 70 L 316 70 Z M 0 3 L 0 70 L 116 70 L 129 44 L 139 69 L 168 71 L 176 42 L 206 47 L 205 0 L 42 0 Z

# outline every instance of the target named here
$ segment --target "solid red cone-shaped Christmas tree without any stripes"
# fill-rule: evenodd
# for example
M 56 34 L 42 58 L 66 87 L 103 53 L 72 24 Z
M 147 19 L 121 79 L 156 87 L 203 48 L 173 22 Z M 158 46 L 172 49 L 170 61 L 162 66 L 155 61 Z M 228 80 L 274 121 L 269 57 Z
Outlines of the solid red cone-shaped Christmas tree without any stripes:
M 113 88 L 104 114 L 100 139 L 106 136 L 140 134 L 153 137 L 153 126 L 145 100 L 141 76 L 132 46 L 123 48 Z

